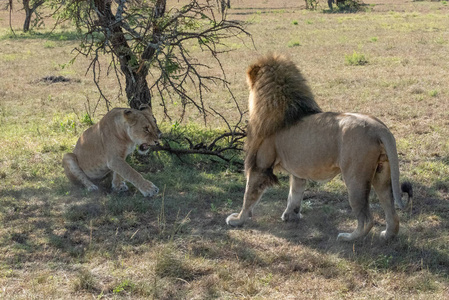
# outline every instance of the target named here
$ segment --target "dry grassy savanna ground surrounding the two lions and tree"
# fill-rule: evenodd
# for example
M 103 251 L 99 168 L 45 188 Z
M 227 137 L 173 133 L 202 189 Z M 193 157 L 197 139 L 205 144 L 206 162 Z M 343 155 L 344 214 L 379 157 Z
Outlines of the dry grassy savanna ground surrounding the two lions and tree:
M 73 187 L 61 158 L 88 127 L 86 113 L 98 99 L 85 75 L 88 61 L 67 64 L 78 42 L 71 26 L 48 35 L 47 25 L 24 35 L 23 13 L 17 12 L 13 37 L 8 13 L 1 11 L 0 298 L 448 296 L 447 2 L 371 0 L 358 13 L 311 12 L 293 0 L 231 3 L 230 19 L 248 22 L 256 47 L 230 41 L 237 50 L 221 56 L 242 107 L 249 62 L 280 51 L 300 66 L 324 110 L 375 115 L 395 134 L 401 179 L 415 191 L 413 206 L 399 212 L 398 237 L 379 239 L 385 220 L 372 194 L 372 232 L 355 243 L 336 242 L 339 232 L 356 225 L 340 178 L 311 183 L 304 218 L 283 223 L 288 179 L 281 176 L 281 186 L 263 196 L 253 219 L 239 229 L 227 227 L 225 218 L 240 210 L 242 172 L 201 158 L 132 157 L 131 164 L 161 189 L 151 199 L 134 188 L 116 195 L 107 184 L 98 193 Z M 71 81 L 41 81 L 50 75 Z M 114 106 L 125 106 L 115 97 L 113 76 L 102 82 Z M 232 103 L 221 86 L 206 97 L 222 111 Z M 94 122 L 105 111 L 100 102 Z M 232 110 L 227 113 L 232 118 Z M 156 117 L 164 131 L 172 128 L 174 120 L 161 111 Z M 196 119 L 192 113 L 183 124 Z M 210 128 L 219 126 L 209 121 Z

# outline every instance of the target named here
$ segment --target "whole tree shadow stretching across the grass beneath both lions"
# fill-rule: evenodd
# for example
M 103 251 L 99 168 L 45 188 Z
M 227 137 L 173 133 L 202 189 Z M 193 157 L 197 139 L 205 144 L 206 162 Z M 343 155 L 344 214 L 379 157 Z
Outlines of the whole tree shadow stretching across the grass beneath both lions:
M 413 206 L 399 212 L 402 229 L 389 242 L 379 238 L 385 221 L 374 199 L 374 228 L 367 237 L 354 243 L 336 241 L 341 230 L 352 231 L 356 224 L 345 192 L 312 187 L 304 199 L 307 204 L 304 218 L 284 223 L 280 215 L 286 205 L 288 187 L 284 184 L 271 189 L 256 207 L 253 220 L 238 230 L 241 234 L 262 232 L 300 252 L 267 258 L 260 244 L 236 239 L 230 235 L 235 229 L 225 224 L 226 216 L 241 207 L 244 182 L 223 180 L 217 185 L 217 174 L 213 171 L 211 176 L 191 172 L 180 178 L 170 172 L 174 171 L 167 168 L 164 173 L 168 174 L 150 175 L 154 182 L 165 182 L 160 194 L 150 199 L 142 197 L 133 187 L 128 193 L 110 193 L 108 184 L 100 192 L 87 193 L 62 179 L 56 181 L 55 189 L 23 187 L 0 191 L 2 222 L 4 228 L 10 229 L 0 239 L 0 248 L 9 253 L 2 255 L 4 264 L 22 268 L 38 260 L 70 266 L 85 262 L 92 255 L 117 260 L 134 255 L 126 250 L 129 247 L 178 238 L 193 240 L 194 234 L 209 241 L 189 243 L 194 256 L 238 259 L 245 265 L 261 266 L 273 273 L 344 275 L 337 262 L 323 260 L 331 254 L 364 264 L 368 269 L 413 272 L 425 268 L 433 274 L 449 275 L 449 256 L 438 248 L 441 246 L 438 239 L 448 234 L 447 199 L 435 195 L 434 187 L 412 183 L 416 195 Z M 179 186 L 179 180 L 187 182 Z M 429 219 L 429 223 L 414 225 L 417 218 Z M 229 245 L 233 245 L 231 252 Z

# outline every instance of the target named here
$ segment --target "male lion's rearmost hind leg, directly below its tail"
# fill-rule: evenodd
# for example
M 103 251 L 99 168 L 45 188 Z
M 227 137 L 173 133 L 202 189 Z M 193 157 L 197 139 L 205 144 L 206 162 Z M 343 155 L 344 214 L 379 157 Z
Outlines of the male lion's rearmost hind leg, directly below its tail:
M 388 162 L 382 162 L 382 165 L 377 168 L 377 172 L 374 175 L 373 187 L 385 211 L 385 221 L 387 223 L 386 230 L 382 231 L 380 236 L 384 239 L 390 239 L 399 232 L 399 216 L 394 207 L 390 165 Z

